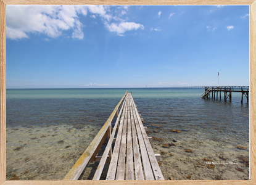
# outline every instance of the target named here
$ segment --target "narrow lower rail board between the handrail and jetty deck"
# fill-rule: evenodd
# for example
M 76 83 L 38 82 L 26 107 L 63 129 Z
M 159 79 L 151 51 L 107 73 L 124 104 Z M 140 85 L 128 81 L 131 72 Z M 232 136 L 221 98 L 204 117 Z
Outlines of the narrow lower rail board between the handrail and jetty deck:
M 115 126 L 114 126 L 112 134 L 110 136 L 110 141 L 107 143 L 107 146 L 105 148 L 105 151 L 104 151 L 101 159 L 99 159 L 99 157 L 94 159 L 94 161 L 100 161 L 100 162 L 99 162 L 99 165 L 97 167 L 96 172 L 94 173 L 93 180 L 99 180 L 101 178 L 101 173 L 103 171 L 106 160 L 109 159 L 109 161 L 110 161 L 111 158 L 112 158 L 112 156 L 108 157 L 107 153 L 108 153 L 108 151 L 110 151 L 110 149 L 112 147 L 112 142 L 114 141 L 115 131 L 117 130 L 117 125 L 119 123 L 119 120 L 120 120 L 121 113 L 122 113 L 123 107 L 125 105 L 125 102 L 126 102 L 126 99 L 122 104 L 122 107 L 121 107 L 120 112 L 119 112 L 118 117 L 117 117 L 117 121 L 115 121 Z

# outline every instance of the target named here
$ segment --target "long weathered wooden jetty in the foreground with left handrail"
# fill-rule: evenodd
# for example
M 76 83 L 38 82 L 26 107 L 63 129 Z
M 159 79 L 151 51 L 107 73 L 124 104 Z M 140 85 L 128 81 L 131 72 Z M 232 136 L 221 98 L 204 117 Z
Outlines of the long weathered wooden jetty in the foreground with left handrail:
M 106 180 L 164 180 L 157 162 L 160 155 L 154 154 L 150 144 L 152 138 L 147 137 L 142 122 L 133 96 L 126 91 L 64 180 L 77 180 L 88 162 L 99 162 L 93 180 L 101 178 L 106 162 L 109 162 Z M 106 138 L 108 142 L 104 154 L 97 156 Z

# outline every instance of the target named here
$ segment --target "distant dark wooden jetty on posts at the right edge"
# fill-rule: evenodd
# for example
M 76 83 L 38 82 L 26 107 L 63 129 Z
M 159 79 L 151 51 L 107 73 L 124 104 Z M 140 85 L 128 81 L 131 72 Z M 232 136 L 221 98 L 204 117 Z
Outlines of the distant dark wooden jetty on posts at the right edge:
M 212 86 L 212 87 L 205 87 L 204 93 L 200 96 L 202 98 L 210 98 L 212 94 L 212 99 L 215 99 L 215 93 L 216 98 L 218 99 L 218 93 L 220 95 L 221 99 L 221 92 L 224 93 L 224 101 L 226 101 L 229 97 L 229 100 L 232 99 L 232 92 L 241 92 L 241 103 L 243 102 L 243 97 L 246 96 L 247 102 L 249 101 L 249 86 Z

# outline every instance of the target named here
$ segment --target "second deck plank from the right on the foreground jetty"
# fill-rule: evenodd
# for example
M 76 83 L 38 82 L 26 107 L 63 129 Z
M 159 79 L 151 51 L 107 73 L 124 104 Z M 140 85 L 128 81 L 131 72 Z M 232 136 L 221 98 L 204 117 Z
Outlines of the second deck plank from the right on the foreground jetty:
M 145 173 L 145 178 L 146 180 L 154 180 L 154 175 L 152 172 L 152 168 L 151 168 L 151 163 L 149 161 L 149 156 L 147 155 L 147 149 L 144 143 L 144 139 L 141 133 L 141 128 L 139 126 L 139 121 L 138 121 L 138 116 L 136 116 L 136 111 L 137 109 L 135 109 L 135 104 L 134 101 L 132 101 L 132 106 L 133 106 L 133 115 L 135 115 L 134 117 L 134 122 L 135 122 L 135 126 L 136 126 L 136 131 L 138 134 L 138 140 L 139 140 L 139 147 L 141 149 L 141 157 L 142 157 L 142 163 L 143 163 L 143 169 L 144 169 L 144 173 Z

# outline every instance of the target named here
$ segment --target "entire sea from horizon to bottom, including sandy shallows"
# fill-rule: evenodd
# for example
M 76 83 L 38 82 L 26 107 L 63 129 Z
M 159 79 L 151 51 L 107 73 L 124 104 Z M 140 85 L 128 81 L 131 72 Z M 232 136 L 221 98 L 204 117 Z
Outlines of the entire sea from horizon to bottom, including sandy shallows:
M 239 92 L 202 99 L 204 88 L 7 89 L 7 179 L 63 179 L 126 91 L 166 180 L 249 179 L 250 104 Z

